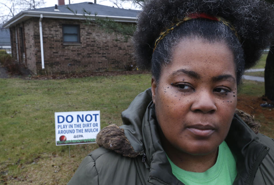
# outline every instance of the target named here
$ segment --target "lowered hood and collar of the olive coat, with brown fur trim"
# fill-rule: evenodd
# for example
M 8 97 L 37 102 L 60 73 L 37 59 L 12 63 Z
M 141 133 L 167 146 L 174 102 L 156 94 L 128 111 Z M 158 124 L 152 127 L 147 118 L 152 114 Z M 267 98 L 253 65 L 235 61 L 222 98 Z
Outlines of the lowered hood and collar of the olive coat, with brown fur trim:
M 110 125 L 98 133 L 98 145 L 126 157 L 143 155 L 142 162 L 149 169 L 148 182 L 152 184 L 181 185 L 172 174 L 160 141 L 150 88 L 137 95 L 122 112 L 122 120 L 124 125 L 121 127 Z M 254 117 L 236 110 L 225 138 L 237 161 L 235 184 L 252 184 L 258 166 L 269 151 L 256 135 L 259 127 Z M 162 169 L 166 172 L 161 173 Z

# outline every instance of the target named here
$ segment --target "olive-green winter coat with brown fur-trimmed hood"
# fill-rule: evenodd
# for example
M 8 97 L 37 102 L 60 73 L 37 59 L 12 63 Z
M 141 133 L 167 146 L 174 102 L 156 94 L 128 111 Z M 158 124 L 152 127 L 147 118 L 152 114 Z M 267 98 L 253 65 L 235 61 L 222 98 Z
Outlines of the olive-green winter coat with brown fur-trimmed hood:
M 101 147 L 84 158 L 68 185 L 183 185 L 172 174 L 160 143 L 150 89 L 122 112 L 122 120 L 123 126 L 100 131 Z M 248 124 L 253 129 L 257 126 L 250 120 Z M 235 114 L 225 139 L 237 161 L 233 185 L 274 184 L 274 141 L 256 135 L 249 126 Z

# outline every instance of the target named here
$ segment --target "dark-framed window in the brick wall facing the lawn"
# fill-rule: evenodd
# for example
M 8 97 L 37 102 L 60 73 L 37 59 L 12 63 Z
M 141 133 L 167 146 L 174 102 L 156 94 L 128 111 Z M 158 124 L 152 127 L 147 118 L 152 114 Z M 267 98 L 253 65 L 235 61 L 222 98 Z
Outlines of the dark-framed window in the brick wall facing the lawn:
M 79 25 L 63 25 L 63 42 L 80 43 Z

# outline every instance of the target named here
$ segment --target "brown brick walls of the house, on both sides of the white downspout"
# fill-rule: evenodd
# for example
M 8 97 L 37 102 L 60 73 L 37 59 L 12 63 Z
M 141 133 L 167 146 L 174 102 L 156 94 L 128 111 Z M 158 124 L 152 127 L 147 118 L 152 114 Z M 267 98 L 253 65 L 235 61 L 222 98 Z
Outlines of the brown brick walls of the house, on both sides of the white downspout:
M 80 44 L 63 44 L 63 24 L 80 25 Z M 134 64 L 131 40 L 78 20 L 42 20 L 45 70 L 41 65 L 39 18 L 24 22 L 27 66 L 35 73 L 124 70 Z

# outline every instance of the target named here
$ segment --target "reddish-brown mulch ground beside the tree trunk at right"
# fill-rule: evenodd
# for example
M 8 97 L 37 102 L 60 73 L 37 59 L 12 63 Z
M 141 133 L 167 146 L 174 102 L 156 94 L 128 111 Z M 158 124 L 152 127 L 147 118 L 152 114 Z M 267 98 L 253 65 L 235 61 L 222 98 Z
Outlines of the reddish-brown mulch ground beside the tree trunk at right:
M 257 97 L 252 95 L 238 95 L 237 108 L 255 116 L 255 119 L 260 120 L 260 133 L 268 137 L 274 137 L 274 108 L 261 107 L 263 103 L 271 103 L 271 100 L 266 97 Z

